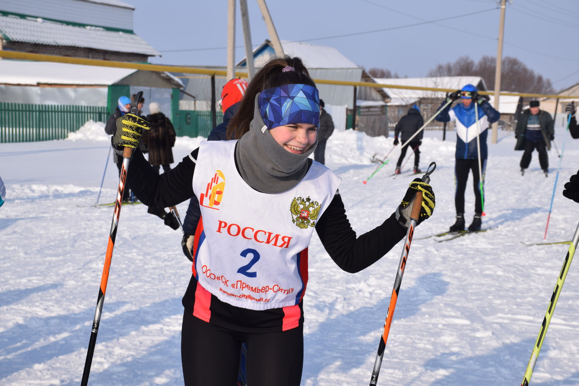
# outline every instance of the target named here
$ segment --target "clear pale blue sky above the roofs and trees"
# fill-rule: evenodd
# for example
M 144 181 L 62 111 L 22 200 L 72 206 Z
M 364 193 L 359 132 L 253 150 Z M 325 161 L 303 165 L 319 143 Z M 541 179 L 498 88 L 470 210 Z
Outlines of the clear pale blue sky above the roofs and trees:
M 137 7 L 135 32 L 159 51 L 227 45 L 227 0 L 128 2 Z M 497 8 L 493 0 L 269 0 L 267 5 L 280 39 L 291 41 L 381 30 Z M 259 45 L 268 38 L 265 23 L 256 1 L 248 0 L 248 7 L 252 43 Z M 243 46 L 239 2 L 236 28 L 236 45 Z M 529 68 L 550 78 L 559 90 L 579 82 L 578 30 L 577 1 L 514 0 L 506 10 L 503 55 L 518 57 Z M 366 68 L 388 68 L 402 76 L 419 77 L 436 64 L 463 55 L 475 61 L 483 55 L 495 56 L 498 31 L 497 8 L 436 24 L 311 43 L 335 47 Z M 184 65 L 226 63 L 225 49 L 162 54 L 151 61 Z M 243 57 L 240 47 L 236 60 Z

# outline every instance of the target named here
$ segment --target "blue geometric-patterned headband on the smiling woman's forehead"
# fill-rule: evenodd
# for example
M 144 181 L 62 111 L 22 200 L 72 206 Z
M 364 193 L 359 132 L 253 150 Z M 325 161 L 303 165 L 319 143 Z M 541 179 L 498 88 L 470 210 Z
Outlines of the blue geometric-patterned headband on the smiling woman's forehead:
M 268 130 L 291 123 L 320 125 L 320 95 L 307 84 L 284 84 L 262 91 L 258 105 Z

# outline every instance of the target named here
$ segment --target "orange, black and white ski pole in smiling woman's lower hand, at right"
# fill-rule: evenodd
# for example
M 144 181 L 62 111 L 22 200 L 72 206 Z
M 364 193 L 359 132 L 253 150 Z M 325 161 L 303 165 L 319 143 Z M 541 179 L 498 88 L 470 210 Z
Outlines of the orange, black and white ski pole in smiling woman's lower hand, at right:
M 430 174 L 432 174 L 432 172 L 435 169 L 436 163 L 433 162 L 428 166 L 428 170 L 423 175 L 422 181 L 430 183 Z M 412 236 L 414 235 L 414 227 L 418 222 L 421 207 L 422 207 L 422 193 L 418 192 L 416 193 L 416 198 L 414 200 L 414 204 L 412 205 L 410 226 L 406 231 L 404 248 L 402 249 L 402 256 L 400 256 L 400 264 L 398 264 L 398 271 L 396 272 L 396 280 L 394 281 L 394 288 L 392 290 L 392 295 L 390 297 L 388 312 L 386 313 L 386 321 L 384 321 L 384 327 L 382 328 L 382 336 L 380 337 L 380 343 L 378 344 L 378 352 L 376 353 L 376 361 L 374 362 L 374 367 L 372 369 L 370 386 L 376 386 L 376 383 L 378 382 L 378 376 L 380 374 L 380 366 L 382 365 L 382 359 L 384 358 L 384 350 L 386 350 L 386 341 L 388 340 L 388 334 L 390 333 L 390 325 L 392 324 L 392 318 L 394 317 L 394 308 L 396 307 L 396 300 L 398 300 L 398 292 L 400 292 L 402 275 L 404 275 L 404 269 L 406 268 L 406 259 L 408 259 L 408 251 L 410 251 L 410 244 L 412 242 Z

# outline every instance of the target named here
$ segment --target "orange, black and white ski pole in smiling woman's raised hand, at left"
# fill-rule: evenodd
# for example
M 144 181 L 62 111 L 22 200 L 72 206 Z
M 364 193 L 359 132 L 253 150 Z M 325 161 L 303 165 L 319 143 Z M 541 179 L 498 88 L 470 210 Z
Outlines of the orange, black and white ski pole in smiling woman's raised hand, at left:
M 131 114 L 137 115 L 138 113 L 137 106 L 138 102 L 142 98 L 142 95 L 143 95 L 142 91 L 139 91 L 137 95 L 135 95 L 135 98 L 133 100 L 133 106 L 131 106 Z M 112 216 L 111 232 L 109 233 L 109 240 L 107 244 L 107 253 L 105 254 L 104 267 L 102 267 L 101 285 L 100 288 L 98 289 L 97 308 L 94 311 L 93 326 L 90 332 L 89 348 L 86 351 L 85 369 L 83 370 L 82 373 L 82 380 L 80 381 L 80 386 L 86 386 L 89 383 L 90 366 L 93 363 L 94 347 L 97 343 L 98 326 L 100 325 L 102 314 L 102 304 L 105 301 L 105 292 L 107 292 L 107 282 L 109 269 L 111 267 L 112 250 L 115 247 L 116 230 L 117 227 L 119 226 L 119 215 L 120 215 L 120 208 L 122 208 L 124 185 L 125 182 L 127 181 L 127 174 L 129 173 L 129 161 L 131 160 L 132 155 L 133 149 L 124 148 L 123 166 L 120 168 L 119 187 L 116 191 L 116 202 L 115 202 L 115 210 L 113 211 Z

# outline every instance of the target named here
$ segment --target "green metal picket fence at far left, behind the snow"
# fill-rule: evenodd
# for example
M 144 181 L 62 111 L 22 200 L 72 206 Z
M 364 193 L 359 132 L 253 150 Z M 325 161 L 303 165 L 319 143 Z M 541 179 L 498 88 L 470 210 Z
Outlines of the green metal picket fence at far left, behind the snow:
M 90 119 L 107 122 L 107 108 L 0 102 L 0 143 L 64 139 Z

